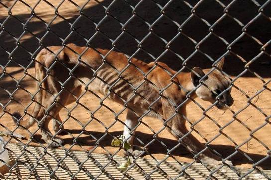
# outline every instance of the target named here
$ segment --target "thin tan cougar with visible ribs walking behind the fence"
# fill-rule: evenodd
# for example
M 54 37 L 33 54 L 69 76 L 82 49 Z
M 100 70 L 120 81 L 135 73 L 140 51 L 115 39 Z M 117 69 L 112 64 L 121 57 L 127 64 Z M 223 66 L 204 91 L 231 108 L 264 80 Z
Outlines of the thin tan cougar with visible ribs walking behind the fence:
M 38 84 L 42 83 L 39 92 L 35 96 L 37 103 L 31 113 L 33 118 L 19 122 L 21 126 L 29 128 L 36 119 L 41 126 L 42 138 L 50 147 L 60 146 L 63 140 L 52 138 L 52 133 L 48 129 L 49 121 L 53 118 L 54 130 L 59 133 L 61 131 L 59 124 L 62 122 L 59 117 L 59 111 L 63 106 L 75 102 L 81 94 L 81 89 L 85 88 L 90 81 L 91 83 L 86 87 L 88 90 L 100 92 L 104 96 L 109 94 L 109 99 L 123 105 L 125 104 L 128 107 L 124 136 L 131 145 L 133 145 L 133 136 L 138 119 L 147 112 L 147 116 L 167 121 L 165 123 L 167 129 L 177 139 L 183 138 L 189 132 L 183 118 L 183 116 L 186 116 L 186 104 L 182 105 L 177 110 L 177 113 L 175 108 L 185 100 L 187 91 L 193 90 L 201 76 L 209 70 L 202 71 L 200 68 L 194 68 L 191 73 L 179 73 L 173 80 L 174 83 L 172 83 L 168 72 L 172 75 L 176 74 L 176 72 L 164 63 L 159 62 L 156 66 L 153 62 L 147 64 L 132 58 L 129 65 L 127 57 L 122 53 L 102 49 L 97 49 L 99 53 L 92 49 L 84 52 L 86 47 L 78 47 L 74 44 L 68 44 L 67 46 L 63 50 L 61 50 L 62 47 L 51 46 L 48 47 L 51 52 L 43 49 L 37 55 L 35 65 L 36 79 Z M 78 57 L 82 53 L 81 62 L 79 63 Z M 55 54 L 58 54 L 57 59 L 60 63 L 56 63 L 51 68 L 51 65 L 55 62 Z M 104 56 L 106 58 L 103 58 Z M 223 62 L 218 67 L 222 68 Z M 74 68 L 75 66 L 77 67 Z M 144 79 L 144 75 L 153 67 L 155 68 Z M 67 68 L 70 70 L 74 69 L 72 72 L 69 72 Z M 72 78 L 70 78 L 69 73 L 72 74 Z M 67 79 L 69 80 L 66 81 Z M 58 81 L 61 83 L 66 81 L 63 90 Z M 214 96 L 213 91 L 216 89 L 220 89 L 220 91 L 225 90 L 229 85 L 229 80 L 215 70 L 208 75 L 208 78 L 203 83 L 204 85 L 201 85 L 195 94 L 204 100 L 214 103 L 216 95 Z M 164 90 L 169 84 L 170 86 Z M 179 84 L 186 90 L 181 89 Z M 138 88 L 139 85 L 140 87 Z M 137 90 L 134 93 L 135 88 Z M 161 97 L 159 95 L 160 90 L 163 90 Z M 223 95 L 224 100 L 220 100 L 219 103 L 220 105 L 227 103 L 230 106 L 233 102 L 231 95 L 229 91 L 225 94 Z M 155 100 L 157 101 L 152 104 Z M 152 104 L 151 108 L 150 104 Z M 45 112 L 47 112 L 47 115 L 45 115 Z M 173 114 L 176 115 L 172 117 Z M 193 153 L 198 153 L 205 148 L 191 134 L 185 136 L 182 139 L 182 143 Z M 141 151 L 133 150 L 132 148 L 129 152 L 133 155 L 141 153 Z M 211 153 L 208 149 L 199 158 L 207 163 L 217 163 L 220 160 L 218 156 Z

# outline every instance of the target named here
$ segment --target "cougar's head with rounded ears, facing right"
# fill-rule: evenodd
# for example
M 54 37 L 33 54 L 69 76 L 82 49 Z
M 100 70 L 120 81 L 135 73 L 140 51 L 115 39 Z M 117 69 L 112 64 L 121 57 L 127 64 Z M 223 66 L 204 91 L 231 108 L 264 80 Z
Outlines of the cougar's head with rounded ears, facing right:
M 224 58 L 221 59 L 217 67 L 222 70 L 223 64 Z M 199 80 L 209 71 L 210 69 L 202 70 L 199 67 L 194 67 L 191 70 L 191 81 L 193 85 L 195 87 L 198 86 L 200 84 Z M 202 81 L 202 84 L 196 90 L 196 95 L 211 103 L 215 103 L 218 100 L 216 107 L 225 110 L 227 106 L 233 104 L 231 89 L 223 92 L 229 87 L 230 82 L 230 79 L 224 76 L 220 71 L 214 70 Z M 219 97 L 216 98 L 217 96 Z

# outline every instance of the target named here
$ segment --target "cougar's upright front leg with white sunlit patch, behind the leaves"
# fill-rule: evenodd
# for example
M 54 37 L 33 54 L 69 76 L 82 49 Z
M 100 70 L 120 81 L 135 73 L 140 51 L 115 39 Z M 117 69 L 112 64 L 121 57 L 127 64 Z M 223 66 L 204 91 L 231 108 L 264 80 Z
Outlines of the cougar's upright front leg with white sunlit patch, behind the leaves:
M 126 115 L 126 121 L 125 121 L 125 124 L 127 127 L 124 126 L 123 137 L 124 138 L 129 137 L 127 142 L 131 145 L 131 148 L 127 150 L 129 153 L 124 151 L 124 154 L 126 156 L 129 156 L 130 153 L 133 156 L 139 156 L 143 152 L 137 146 L 134 146 L 134 143 L 133 143 L 134 135 L 136 133 L 136 129 L 134 129 L 134 128 L 138 124 L 138 119 L 139 119 L 139 117 L 134 112 L 132 112 L 131 110 L 128 110 L 127 115 Z M 131 132 L 131 130 L 133 130 L 133 131 Z

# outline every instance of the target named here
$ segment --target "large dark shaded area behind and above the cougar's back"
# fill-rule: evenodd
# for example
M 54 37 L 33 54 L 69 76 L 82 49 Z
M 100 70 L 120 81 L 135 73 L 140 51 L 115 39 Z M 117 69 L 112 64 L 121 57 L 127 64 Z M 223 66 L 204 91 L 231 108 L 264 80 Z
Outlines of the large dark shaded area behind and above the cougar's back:
M 161 9 L 154 1 L 141 1 L 136 7 L 136 15 L 133 15 L 132 8 L 129 4 L 135 7 L 139 2 L 138 0 L 129 0 L 128 3 L 122 0 L 116 0 L 108 8 L 109 15 L 105 17 L 105 9 L 103 6 L 108 7 L 111 2 L 112 0 L 104 0 L 101 4 L 95 3 L 91 7 L 84 8 L 82 10 L 83 15 L 80 18 L 78 18 L 80 15 L 79 11 L 74 11 L 73 14 L 61 14 L 61 12 L 59 12 L 59 15 L 67 20 L 59 20 L 60 17 L 57 17 L 50 25 L 50 32 L 48 33 L 46 31 L 46 24 L 34 16 L 27 24 L 27 31 L 30 31 L 40 39 L 43 38 L 43 46 L 61 45 L 62 41 L 60 38 L 65 39 L 66 43 L 75 43 L 85 46 L 87 44 L 86 40 L 92 39 L 90 41 L 92 47 L 111 49 L 112 41 L 114 41 L 116 50 L 120 50 L 128 55 L 133 55 L 138 49 L 136 38 L 138 41 L 141 41 L 141 50 L 136 53 L 136 58 L 146 62 L 153 61 L 154 59 L 146 53 L 148 52 L 156 59 L 158 58 L 159 61 L 167 63 L 171 68 L 179 70 L 183 63 L 180 56 L 186 59 L 195 52 L 195 44 L 189 40 L 189 38 L 199 43 L 209 34 L 209 27 L 200 20 L 200 18 L 213 24 L 223 15 L 223 7 L 219 3 L 213 0 L 205 0 L 195 9 L 196 16 L 193 16 L 182 27 L 182 34 L 176 36 L 180 32 L 176 24 L 182 25 L 184 21 L 191 16 L 191 9 L 184 2 L 175 0 L 168 4 L 164 9 L 164 15 L 161 16 Z M 161 6 L 165 6 L 167 2 L 167 0 L 157 1 Z M 196 0 L 189 1 L 192 6 L 196 5 L 197 2 Z M 227 0 L 222 0 L 222 2 L 225 5 L 230 3 Z M 260 5 L 263 5 L 264 2 L 265 0 L 258 0 Z M 10 5 L 11 3 L 9 6 Z M 47 8 L 47 6 L 44 8 Z M 71 7 L 75 7 L 75 5 L 71 4 Z M 252 1 L 237 1 L 230 6 L 228 14 L 246 25 L 258 15 L 258 9 L 259 7 Z M 54 9 L 50 6 L 48 6 L 48 11 L 48 13 L 54 13 Z M 259 45 L 257 41 L 259 40 L 265 44 L 271 37 L 271 22 L 268 19 L 271 14 L 270 12 L 271 5 L 268 4 L 262 12 L 266 17 L 261 15 L 251 22 L 251 25 L 246 29 L 247 35 L 244 35 L 244 37 L 231 46 L 231 51 L 241 55 L 247 62 L 258 55 L 261 52 L 260 48 L 262 45 Z M 52 14 L 49 14 L 51 15 L 51 18 L 48 18 L 49 20 L 53 18 Z M 17 20 L 19 19 L 23 23 L 26 23 L 30 16 L 30 12 L 29 14 L 14 15 L 15 18 L 11 16 L 4 23 L 5 31 L 2 31 L 0 34 L 0 46 L 8 52 L 16 48 L 12 53 L 12 61 L 16 61 L 23 66 L 27 66 L 31 62 L 30 53 L 34 53 L 39 47 L 38 43 L 40 43 L 33 35 L 24 31 L 23 25 Z M 38 13 L 37 16 L 39 16 Z M 41 19 L 45 19 L 46 17 L 44 14 L 40 16 Z M 46 20 L 47 23 L 49 21 L 48 19 Z M 90 19 L 97 24 L 99 23 L 98 26 L 96 27 Z M 157 19 L 159 20 L 156 21 Z M 4 20 L 5 18 L 1 18 L 0 23 L 3 23 Z M 126 22 L 128 23 L 125 24 Z M 146 22 L 152 25 L 151 34 Z M 125 24 L 124 32 L 121 30 L 122 25 L 120 23 Z M 72 28 L 77 32 L 73 31 L 71 33 Z M 95 28 L 98 28 L 99 32 L 97 32 Z M 6 31 L 12 33 L 16 38 L 19 38 L 24 32 L 24 35 L 19 41 L 19 46 L 16 46 L 16 40 Z M 44 36 L 45 33 L 47 33 L 46 36 Z M 215 35 L 210 35 L 207 40 L 201 43 L 199 51 L 189 59 L 187 62 L 188 67 L 199 66 L 209 68 L 212 62 L 203 55 L 203 53 L 208 54 L 211 58 L 216 60 L 227 51 L 227 45 L 216 35 L 222 37 L 228 43 L 231 43 L 242 34 L 242 27 L 237 21 L 226 16 L 213 28 L 213 33 Z M 119 36 L 120 34 L 122 35 Z M 85 37 L 86 40 L 83 37 Z M 112 41 L 110 41 L 109 38 L 112 39 Z M 161 56 L 161 54 L 166 51 L 166 43 L 164 41 L 171 41 L 169 44 L 170 48 Z M 200 53 L 200 51 L 202 53 Z M 271 48 L 269 44 L 265 47 L 265 53 L 267 53 L 267 55 L 261 55 L 249 67 L 262 77 L 270 77 L 269 69 L 271 67 L 271 59 L 269 56 L 271 54 Z M 0 50 L 0 58 L 2 65 L 8 61 L 8 54 L 4 52 L 3 49 Z M 229 56 L 226 57 L 225 71 L 230 75 L 237 76 L 244 70 L 245 64 L 246 63 L 242 62 L 236 56 L 229 54 Z M 18 64 L 11 63 L 9 66 L 14 65 L 17 66 Z M 244 76 L 254 75 L 246 73 Z

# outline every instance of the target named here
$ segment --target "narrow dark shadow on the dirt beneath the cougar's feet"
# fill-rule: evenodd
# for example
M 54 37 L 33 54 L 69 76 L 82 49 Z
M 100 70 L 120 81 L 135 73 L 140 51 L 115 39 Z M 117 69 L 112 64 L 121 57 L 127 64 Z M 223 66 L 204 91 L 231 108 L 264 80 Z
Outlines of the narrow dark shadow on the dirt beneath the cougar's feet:
M 66 129 L 66 131 L 71 134 L 80 134 L 82 132 L 82 130 L 75 130 L 75 129 Z M 103 140 L 99 142 L 99 146 L 102 146 L 105 148 L 108 146 L 111 146 L 112 136 L 117 137 L 122 133 L 123 133 L 123 131 L 109 132 L 110 135 L 107 134 L 105 137 L 103 137 Z M 91 131 L 91 132 L 84 131 L 84 134 L 86 134 L 86 135 L 91 134 L 91 135 L 95 136 L 97 139 L 100 139 L 102 136 L 105 135 L 104 132 L 97 132 L 97 131 Z M 136 138 L 139 138 L 140 140 L 142 140 L 145 144 L 147 144 L 148 142 L 150 142 L 153 139 L 153 135 L 142 133 L 139 131 L 136 132 L 135 136 L 136 136 Z M 45 143 L 41 139 L 41 135 L 34 135 L 33 139 L 35 141 L 40 142 L 40 143 Z M 158 140 L 162 141 L 167 146 L 168 149 L 172 149 L 173 147 L 175 147 L 178 144 L 178 141 L 175 139 L 168 139 L 168 138 L 160 138 L 159 137 Z M 73 141 L 74 141 L 74 138 L 65 138 L 64 139 L 65 144 L 73 144 Z M 154 143 L 152 143 L 151 145 L 148 146 L 147 154 L 152 154 L 152 155 L 153 154 L 165 154 L 165 155 L 167 154 L 166 148 L 163 147 L 159 141 L 156 140 Z M 86 145 L 88 147 L 96 146 L 96 140 L 92 139 L 90 136 L 79 137 L 79 138 L 77 138 L 76 142 L 78 145 Z M 135 145 L 141 146 L 141 144 L 136 139 L 135 139 Z M 233 154 L 236 151 L 234 146 L 229 146 L 229 145 L 211 145 L 211 148 L 216 150 L 218 153 L 220 153 L 222 155 L 222 157 L 224 157 L 224 158 L 230 156 L 231 154 Z M 117 148 L 116 148 L 116 150 L 117 150 Z M 250 162 L 249 159 L 247 159 L 244 156 L 244 153 L 245 152 L 239 150 L 239 153 L 234 155 L 230 160 L 233 162 L 234 165 L 252 164 L 252 162 Z M 254 161 L 254 163 L 256 163 L 266 157 L 264 155 L 253 154 L 253 153 L 245 153 L 245 154 L 248 155 Z M 179 146 L 175 151 L 173 151 L 171 153 L 171 155 L 193 158 L 192 154 L 189 153 L 183 146 Z M 268 158 L 264 162 L 260 163 L 258 166 L 263 169 L 271 170 L 270 161 L 271 161 L 271 158 Z

